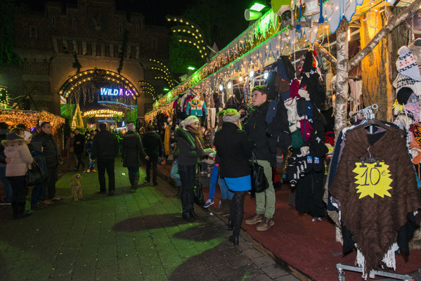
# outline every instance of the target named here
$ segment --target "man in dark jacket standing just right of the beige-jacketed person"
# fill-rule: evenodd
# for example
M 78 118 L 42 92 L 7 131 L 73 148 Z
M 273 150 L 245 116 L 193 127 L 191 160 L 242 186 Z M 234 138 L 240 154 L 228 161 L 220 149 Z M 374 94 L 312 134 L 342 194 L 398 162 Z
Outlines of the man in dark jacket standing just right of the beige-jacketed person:
M 50 122 L 41 123 L 41 131 L 32 138 L 34 148 L 41 148 L 44 152 L 48 177 L 44 184 L 44 196 L 42 197 L 44 204 L 51 204 L 51 201 L 61 200 L 56 197 L 56 182 L 58 165 L 63 164 L 60 150 L 56 139 L 53 136 L 53 127 Z

